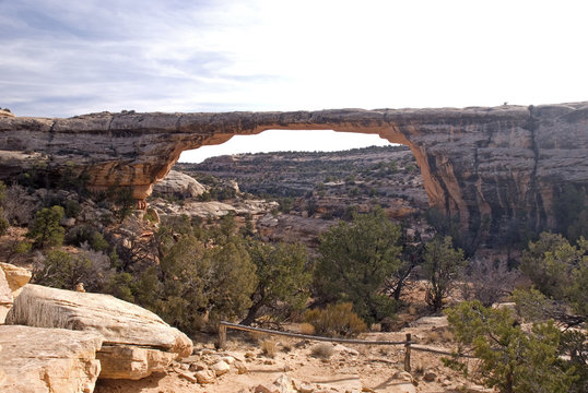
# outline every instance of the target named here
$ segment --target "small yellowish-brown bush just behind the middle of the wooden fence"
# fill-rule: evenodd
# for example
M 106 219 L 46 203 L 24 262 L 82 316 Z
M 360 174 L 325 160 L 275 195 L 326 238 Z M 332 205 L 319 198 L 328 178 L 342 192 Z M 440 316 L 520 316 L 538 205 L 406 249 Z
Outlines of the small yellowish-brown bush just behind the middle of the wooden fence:
M 316 335 L 355 336 L 367 330 L 365 322 L 353 312 L 353 305 L 328 305 L 326 309 L 307 310 L 304 321 L 315 327 Z

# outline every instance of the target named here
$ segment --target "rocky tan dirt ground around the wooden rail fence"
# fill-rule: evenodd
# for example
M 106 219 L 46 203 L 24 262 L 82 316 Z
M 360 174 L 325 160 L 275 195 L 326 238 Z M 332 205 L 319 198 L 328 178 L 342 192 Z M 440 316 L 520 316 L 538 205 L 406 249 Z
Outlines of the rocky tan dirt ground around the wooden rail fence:
M 414 285 L 407 296 L 413 300 L 424 299 L 423 286 Z M 454 347 L 452 335 L 447 329 L 446 318 L 421 317 L 425 311 L 424 302 L 413 301 L 399 315 L 398 323 L 404 325 L 402 330 L 369 332 L 358 338 L 399 342 L 405 338 L 405 333 L 411 333 L 412 340 L 419 345 L 450 352 Z M 296 330 L 295 325 L 290 327 Z M 282 336 L 252 336 L 250 333 L 228 330 L 225 350 L 216 350 L 216 340 L 207 335 L 197 337 L 195 355 L 173 365 L 167 373 L 153 374 L 140 381 L 102 380 L 95 392 L 296 392 L 292 386 L 285 390 L 283 385 L 274 384 L 274 381 L 283 380 L 283 376 L 292 379 L 299 392 L 492 392 L 446 368 L 442 355 L 412 350 L 411 372 L 403 372 L 402 345 L 341 345 Z M 322 346 L 319 355 L 318 346 Z M 274 353 L 267 354 L 263 348 L 273 348 Z M 322 353 L 326 354 L 321 357 Z M 216 377 L 212 383 L 196 382 L 196 369 L 210 367 L 226 358 L 240 361 L 247 371 L 239 373 L 232 366 L 227 373 Z

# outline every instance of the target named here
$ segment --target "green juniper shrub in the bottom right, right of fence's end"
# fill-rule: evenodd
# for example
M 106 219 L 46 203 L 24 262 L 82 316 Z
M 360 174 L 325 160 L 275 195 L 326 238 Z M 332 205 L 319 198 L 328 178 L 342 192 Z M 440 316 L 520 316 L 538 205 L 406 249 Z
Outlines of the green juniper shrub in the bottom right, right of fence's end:
M 481 360 L 480 382 L 486 386 L 503 393 L 567 393 L 577 379 L 558 356 L 561 332 L 553 321 L 534 324 L 526 333 L 508 309 L 486 308 L 478 300 L 446 313 L 459 347 L 445 364 L 469 374 L 459 355 L 472 350 Z

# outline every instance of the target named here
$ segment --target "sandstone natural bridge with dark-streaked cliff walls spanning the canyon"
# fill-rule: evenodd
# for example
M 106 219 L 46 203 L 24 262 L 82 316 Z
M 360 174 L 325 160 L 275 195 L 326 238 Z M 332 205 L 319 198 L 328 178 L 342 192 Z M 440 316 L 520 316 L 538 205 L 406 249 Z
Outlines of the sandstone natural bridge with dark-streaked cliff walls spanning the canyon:
M 464 109 L 341 109 L 294 112 L 93 114 L 69 119 L 0 118 L 0 177 L 39 159 L 74 163 L 95 190 L 130 187 L 138 201 L 185 150 L 269 129 L 374 133 L 408 145 L 430 204 L 463 228 L 511 219 L 553 225 L 553 195 L 588 184 L 588 103 Z M 309 146 L 311 148 L 311 146 Z

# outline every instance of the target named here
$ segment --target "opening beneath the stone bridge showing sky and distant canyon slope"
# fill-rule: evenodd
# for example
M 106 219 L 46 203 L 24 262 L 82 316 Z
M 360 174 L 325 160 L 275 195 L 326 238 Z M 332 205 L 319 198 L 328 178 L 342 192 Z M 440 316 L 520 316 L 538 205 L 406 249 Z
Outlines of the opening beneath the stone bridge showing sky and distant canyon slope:
M 209 175 L 236 180 L 242 191 L 258 196 L 305 198 L 309 204 L 318 202 L 315 207 L 325 217 L 342 216 L 345 210 L 349 214 L 351 207 L 378 205 L 400 218 L 428 206 L 413 154 L 377 134 L 269 130 L 233 136 L 219 147 L 228 144 L 232 146 L 220 151 L 222 157 L 202 162 L 210 154 L 192 154 L 180 158 L 174 168 L 204 181 Z M 238 152 L 256 154 L 231 154 Z

